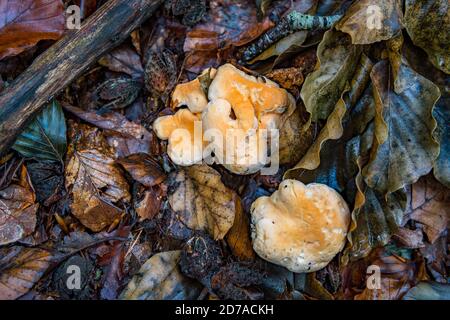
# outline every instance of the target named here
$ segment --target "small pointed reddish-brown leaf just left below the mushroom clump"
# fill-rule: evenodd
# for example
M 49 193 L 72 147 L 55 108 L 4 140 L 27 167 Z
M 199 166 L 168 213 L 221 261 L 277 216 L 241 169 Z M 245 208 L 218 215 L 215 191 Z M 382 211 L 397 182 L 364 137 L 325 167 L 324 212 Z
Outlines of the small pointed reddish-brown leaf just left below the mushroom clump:
M 136 153 L 117 160 L 127 170 L 134 180 L 146 187 L 160 184 L 166 178 L 160 165 L 146 153 Z

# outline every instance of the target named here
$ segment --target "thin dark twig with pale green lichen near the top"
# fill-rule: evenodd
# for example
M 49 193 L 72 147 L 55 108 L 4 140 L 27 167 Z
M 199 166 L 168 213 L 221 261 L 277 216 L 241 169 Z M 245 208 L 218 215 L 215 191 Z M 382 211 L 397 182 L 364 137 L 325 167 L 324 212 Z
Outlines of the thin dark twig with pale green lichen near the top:
M 292 11 L 276 25 L 263 34 L 258 40 L 249 45 L 242 53 L 241 60 L 248 62 L 269 48 L 275 42 L 289 34 L 300 30 L 329 29 L 342 15 L 311 16 L 297 11 Z

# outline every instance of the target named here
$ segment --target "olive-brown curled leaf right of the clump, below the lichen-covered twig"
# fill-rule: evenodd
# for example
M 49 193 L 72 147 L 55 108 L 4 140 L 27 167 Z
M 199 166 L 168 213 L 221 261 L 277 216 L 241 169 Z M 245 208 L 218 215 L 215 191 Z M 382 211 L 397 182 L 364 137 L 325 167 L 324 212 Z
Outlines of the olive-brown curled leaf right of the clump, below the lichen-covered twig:
M 317 48 L 318 67 L 303 84 L 301 97 L 312 121 L 327 119 L 350 82 L 361 48 L 345 33 L 325 32 Z

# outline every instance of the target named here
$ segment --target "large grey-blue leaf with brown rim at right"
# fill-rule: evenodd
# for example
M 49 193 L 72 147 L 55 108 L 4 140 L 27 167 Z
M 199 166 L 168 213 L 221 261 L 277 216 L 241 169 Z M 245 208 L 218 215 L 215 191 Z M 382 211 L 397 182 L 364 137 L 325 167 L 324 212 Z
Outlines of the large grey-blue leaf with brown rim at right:
M 376 105 L 375 142 L 363 169 L 367 185 L 380 193 L 393 192 L 427 174 L 439 154 L 432 133 L 432 109 L 440 93 L 436 85 L 401 64 L 390 87 L 387 61 L 374 66 L 371 79 Z

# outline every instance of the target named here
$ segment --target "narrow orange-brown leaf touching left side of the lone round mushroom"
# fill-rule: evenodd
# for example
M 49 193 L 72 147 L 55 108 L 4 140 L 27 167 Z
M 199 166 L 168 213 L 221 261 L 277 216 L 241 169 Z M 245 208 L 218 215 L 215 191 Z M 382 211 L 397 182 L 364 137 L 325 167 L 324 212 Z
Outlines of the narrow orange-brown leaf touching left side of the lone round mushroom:
M 234 224 L 228 232 L 227 243 L 231 252 L 240 260 L 254 260 L 255 252 L 250 238 L 250 219 L 245 214 L 242 205 L 237 205 Z

